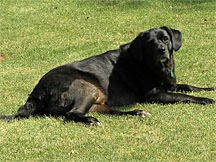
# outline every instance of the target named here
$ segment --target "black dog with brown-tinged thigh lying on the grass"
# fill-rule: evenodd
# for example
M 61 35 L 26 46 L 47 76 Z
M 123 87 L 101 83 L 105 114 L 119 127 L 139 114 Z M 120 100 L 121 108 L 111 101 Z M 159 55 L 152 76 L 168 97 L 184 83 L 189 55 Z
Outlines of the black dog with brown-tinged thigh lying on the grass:
M 140 33 L 120 49 L 59 66 L 42 77 L 16 114 L 1 115 L 0 119 L 54 115 L 98 125 L 97 119 L 84 115 L 96 111 L 145 117 L 150 114 L 142 110 L 120 112 L 110 107 L 145 102 L 214 103 L 212 99 L 171 92 L 215 90 L 176 84 L 173 50 L 181 44 L 181 32 L 163 26 Z

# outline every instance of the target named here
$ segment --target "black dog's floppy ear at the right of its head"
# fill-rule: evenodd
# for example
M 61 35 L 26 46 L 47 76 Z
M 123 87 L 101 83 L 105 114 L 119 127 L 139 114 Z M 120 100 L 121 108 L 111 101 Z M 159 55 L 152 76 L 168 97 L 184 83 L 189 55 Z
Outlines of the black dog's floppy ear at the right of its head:
M 175 51 L 178 51 L 179 48 L 182 45 L 182 34 L 181 34 L 181 32 L 178 31 L 178 30 L 175 30 L 175 29 L 171 29 L 171 28 L 169 28 L 167 26 L 162 26 L 160 28 L 166 30 L 167 33 L 171 36 L 173 49 Z

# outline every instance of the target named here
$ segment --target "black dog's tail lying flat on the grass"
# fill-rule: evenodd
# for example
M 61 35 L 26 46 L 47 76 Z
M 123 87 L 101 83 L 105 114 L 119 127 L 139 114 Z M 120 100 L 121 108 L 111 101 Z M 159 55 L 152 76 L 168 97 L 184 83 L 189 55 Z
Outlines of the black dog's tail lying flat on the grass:
M 12 120 L 16 118 L 29 118 L 31 115 L 34 115 L 38 103 L 33 99 L 28 99 L 27 102 L 21 106 L 16 114 L 13 115 L 0 115 L 0 120 Z

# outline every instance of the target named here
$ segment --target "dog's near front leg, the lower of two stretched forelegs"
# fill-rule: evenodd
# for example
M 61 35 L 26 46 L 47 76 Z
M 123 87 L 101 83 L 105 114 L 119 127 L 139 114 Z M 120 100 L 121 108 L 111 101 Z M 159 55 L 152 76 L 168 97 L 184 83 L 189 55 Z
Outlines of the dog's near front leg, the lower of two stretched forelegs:
M 196 103 L 196 104 L 213 104 L 215 101 L 213 99 L 204 98 L 204 97 L 195 97 L 195 96 L 189 96 L 185 94 L 180 93 L 170 93 L 170 92 L 160 92 L 156 94 L 150 94 L 146 97 L 147 102 L 150 103 L 163 103 L 163 104 L 169 104 L 169 103 Z

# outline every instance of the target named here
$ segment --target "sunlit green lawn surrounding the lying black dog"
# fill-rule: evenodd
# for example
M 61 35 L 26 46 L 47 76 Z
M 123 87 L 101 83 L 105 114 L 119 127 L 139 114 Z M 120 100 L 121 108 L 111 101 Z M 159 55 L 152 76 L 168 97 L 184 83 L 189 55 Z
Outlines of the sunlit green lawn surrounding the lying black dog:
M 163 25 L 183 33 L 178 82 L 216 87 L 214 0 L 1 0 L 0 114 L 15 113 L 51 68 Z M 215 92 L 189 94 L 216 99 Z M 152 116 L 89 114 L 101 127 L 52 117 L 0 121 L 0 161 L 215 161 L 215 105 L 122 109 Z

